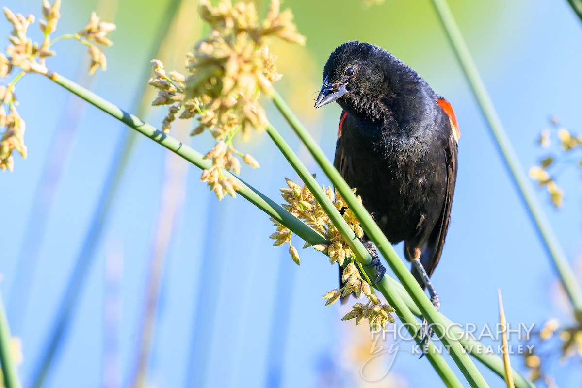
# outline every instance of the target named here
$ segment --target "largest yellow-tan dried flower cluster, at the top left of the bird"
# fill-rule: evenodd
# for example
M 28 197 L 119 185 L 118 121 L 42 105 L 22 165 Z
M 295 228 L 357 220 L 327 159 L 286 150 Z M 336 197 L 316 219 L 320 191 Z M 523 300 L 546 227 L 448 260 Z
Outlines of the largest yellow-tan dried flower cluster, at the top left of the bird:
M 243 136 L 251 127 L 264 129 L 267 118 L 258 104 L 260 93 L 271 90 L 271 83 L 280 79 L 275 58 L 267 47 L 267 38 L 303 44 L 305 38 L 297 33 L 290 10 L 279 11 L 279 0 L 272 0 L 267 17 L 260 23 L 252 2 L 222 0 L 213 7 L 201 1 L 198 13 L 210 24 L 210 33 L 194 45 L 186 56 L 187 76 L 180 73 L 166 75 L 161 62 L 154 60 L 154 77 L 150 85 L 158 89 L 152 105 L 169 105 L 162 123 L 167 133 L 177 118 L 197 119 L 191 135 L 210 131 L 217 140 L 206 158 L 212 167 L 204 170 L 201 180 L 206 182 L 219 199 L 225 192 L 235 196 L 236 183 L 225 177 L 221 170 L 238 173 L 240 162 L 258 167 L 250 155 L 243 155 L 232 145 L 240 131 Z

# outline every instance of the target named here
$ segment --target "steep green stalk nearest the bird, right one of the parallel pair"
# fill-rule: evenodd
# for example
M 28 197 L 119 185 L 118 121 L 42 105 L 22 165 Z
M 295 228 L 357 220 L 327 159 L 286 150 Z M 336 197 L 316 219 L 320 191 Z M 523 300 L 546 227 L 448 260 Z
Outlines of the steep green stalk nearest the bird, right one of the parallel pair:
M 313 158 L 320 165 L 321 169 L 328 176 L 329 180 L 333 183 L 333 186 L 342 195 L 342 198 L 346 201 L 349 208 L 354 212 L 357 219 L 360 220 L 361 227 L 363 227 L 366 235 L 372 240 L 376 247 L 381 252 L 382 256 L 388 262 L 388 265 L 394 271 L 398 280 L 402 282 L 404 289 L 410 294 L 414 302 L 420 308 L 423 316 L 427 321 L 432 324 L 432 328 L 435 333 L 442 339 L 443 344 L 449 350 L 449 354 L 453 358 L 453 361 L 457 364 L 460 371 L 463 373 L 467 382 L 471 387 L 487 387 L 487 382 L 481 373 L 478 371 L 477 366 L 473 364 L 473 361 L 469 358 L 463 348 L 461 347 L 458 340 L 450 335 L 443 325 L 441 316 L 439 316 L 437 309 L 434 308 L 432 302 L 424 294 L 423 289 L 416 282 L 409 269 L 404 266 L 402 260 L 398 257 L 398 254 L 392 248 L 392 244 L 386 239 L 384 233 L 380 230 L 370 213 L 359 204 L 356 195 L 352 193 L 352 189 L 343 180 L 342 176 L 336 170 L 332 163 L 329 161 L 327 156 L 325 156 L 319 144 L 314 141 L 311 134 L 303 127 L 303 125 L 296 118 L 294 113 L 289 109 L 289 106 L 283 101 L 281 95 L 276 91 L 272 94 L 273 102 L 275 106 L 279 109 L 282 115 L 285 117 L 289 125 L 292 127 L 293 131 L 299 136 L 303 144 L 306 145 L 307 149 L 313 155 Z

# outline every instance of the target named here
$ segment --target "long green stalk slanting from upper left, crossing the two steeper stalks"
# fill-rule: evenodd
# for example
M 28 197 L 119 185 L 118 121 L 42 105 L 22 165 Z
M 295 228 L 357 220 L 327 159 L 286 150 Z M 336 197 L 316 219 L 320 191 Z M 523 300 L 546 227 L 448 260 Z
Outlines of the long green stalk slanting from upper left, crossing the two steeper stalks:
M 161 131 L 158 131 L 157 129 L 155 129 L 155 127 L 151 126 L 150 124 L 144 123 L 136 116 L 123 111 L 118 106 L 112 104 L 111 102 L 105 100 L 104 98 L 99 97 L 98 95 L 87 90 L 86 88 L 83 88 L 78 84 L 56 73 L 48 73 L 47 77 L 50 80 L 54 81 L 56 84 L 59 84 L 60 86 L 65 88 L 66 90 L 69 90 L 73 94 L 76 94 L 80 98 L 84 99 L 85 101 L 89 102 L 95 107 L 101 109 L 101 111 L 107 113 L 113 118 L 120 120 L 121 122 L 127 124 L 127 126 L 129 126 L 130 128 L 136 130 L 137 132 L 143 134 L 144 136 L 151 138 L 151 140 L 154 140 L 156 143 L 181 156 L 183 159 L 189 161 L 198 168 L 207 169 L 211 167 L 211 161 L 209 161 L 208 159 L 204 159 L 203 155 L 200 154 L 200 152 L 194 151 L 194 149 L 188 147 L 187 145 L 182 144 L 182 142 L 176 140 L 175 138 L 168 136 L 162 133 Z M 255 207 L 261 209 L 262 211 L 267 213 L 267 215 L 271 216 L 278 222 L 288 227 L 294 234 L 299 236 L 301 239 L 307 241 L 311 245 L 329 244 L 329 241 L 324 236 L 322 236 L 315 230 L 311 229 L 311 227 L 301 222 L 301 220 L 291 215 L 291 213 L 283 209 L 281 205 L 277 204 L 275 201 L 272 201 L 270 198 L 262 194 L 260 191 L 246 184 L 243 180 L 239 179 L 235 175 L 232 175 L 230 172 L 226 170 L 223 170 L 222 173 L 229 179 L 236 180 L 237 184 L 239 184 L 239 186 L 241 187 L 241 189 L 237 191 L 237 193 L 239 193 L 247 201 L 251 202 L 251 204 L 255 205 Z M 418 309 L 417 305 L 414 303 L 414 301 L 409 296 L 407 291 L 404 290 L 402 285 L 396 282 L 396 280 L 392 279 L 389 276 L 384 276 L 384 279 L 382 279 L 381 282 L 377 284 L 377 289 L 381 291 L 383 289 L 386 290 L 387 292 L 389 291 L 392 298 L 400 298 L 402 301 L 404 301 L 406 306 L 410 309 L 410 311 L 414 315 L 421 316 L 420 309 Z M 392 301 L 390 300 L 389 302 L 392 303 Z M 394 303 L 394 306 L 396 305 L 399 305 L 398 302 Z M 442 314 L 439 315 L 445 322 L 445 325 L 450 326 L 452 324 L 452 322 L 444 315 Z M 456 328 L 455 326 L 453 326 L 451 332 L 456 337 L 461 337 L 459 333 L 463 333 L 460 328 Z M 467 334 L 465 334 L 464 336 L 467 337 Z M 466 341 L 462 340 L 462 343 L 463 345 L 468 344 L 474 346 L 473 348 L 469 349 L 469 353 L 473 354 L 474 357 L 481 361 L 485 366 L 487 366 L 487 368 L 491 369 L 499 376 L 503 376 L 503 362 L 501 361 L 500 358 L 492 354 L 485 354 L 484 347 L 477 340 L 473 339 L 469 339 Z M 514 370 L 513 373 L 514 376 L 516 375 L 519 376 L 519 373 L 517 371 Z M 523 380 L 522 382 L 521 379 L 516 379 L 516 387 L 531 388 L 533 387 L 533 385 L 530 382 L 527 382 L 527 380 Z

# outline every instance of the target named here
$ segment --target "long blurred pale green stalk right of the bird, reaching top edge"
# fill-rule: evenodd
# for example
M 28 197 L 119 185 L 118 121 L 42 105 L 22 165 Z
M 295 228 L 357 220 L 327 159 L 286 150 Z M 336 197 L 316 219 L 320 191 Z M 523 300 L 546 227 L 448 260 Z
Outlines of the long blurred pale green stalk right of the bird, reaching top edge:
M 437 9 L 437 13 L 446 30 L 450 43 L 455 49 L 457 59 L 459 59 L 459 63 L 463 68 L 467 81 L 471 86 L 471 90 L 473 90 L 473 94 L 480 105 L 481 112 L 485 116 L 485 119 L 487 119 L 491 134 L 494 136 L 499 151 L 501 151 L 501 154 L 503 155 L 503 161 L 505 161 L 506 167 L 512 174 L 513 181 L 521 195 L 521 200 L 523 200 L 524 205 L 526 205 L 527 211 L 530 213 L 531 219 L 534 221 L 535 227 L 537 227 L 537 231 L 544 241 L 545 248 L 552 259 L 553 267 L 560 278 L 560 282 L 562 282 L 562 285 L 566 290 L 570 302 L 572 303 L 574 314 L 580 318 L 582 317 L 582 291 L 580 290 L 580 285 L 576 281 L 576 277 L 574 277 L 574 270 L 568 263 L 566 256 L 562 251 L 562 247 L 560 247 L 558 239 L 553 233 L 548 219 L 545 217 L 540 202 L 537 200 L 537 197 L 531 188 L 530 180 L 526 176 L 524 169 L 521 167 L 521 163 L 513 150 L 509 137 L 507 136 L 505 129 L 503 129 L 503 125 L 495 111 L 491 97 L 489 97 L 487 88 L 485 88 L 485 84 L 479 75 L 477 66 L 471 57 L 469 48 L 463 39 L 463 35 L 455 22 L 452 12 L 450 12 L 449 6 L 445 0 L 432 0 L 432 3 L 435 6 L 435 9 Z M 577 1 L 577 3 L 580 3 L 580 1 Z

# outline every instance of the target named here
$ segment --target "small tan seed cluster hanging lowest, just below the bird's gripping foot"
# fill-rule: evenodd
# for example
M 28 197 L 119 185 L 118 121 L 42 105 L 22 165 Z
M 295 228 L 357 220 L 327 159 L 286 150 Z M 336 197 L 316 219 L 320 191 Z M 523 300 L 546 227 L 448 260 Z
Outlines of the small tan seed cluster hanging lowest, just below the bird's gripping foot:
M 347 296 L 354 293 L 356 297 L 360 297 L 363 293 L 365 297 L 368 298 L 366 304 L 357 302 L 352 306 L 352 311 L 348 312 L 342 321 L 349 321 L 352 318 L 356 319 L 356 325 L 360 325 L 363 319 L 368 319 L 368 325 L 370 325 L 371 331 L 378 331 L 380 329 L 386 329 L 388 322 L 394 323 L 394 318 L 391 313 L 394 312 L 394 308 L 388 304 L 382 304 L 375 294 L 372 293 L 370 286 L 365 280 L 360 276 L 360 271 L 352 263 L 348 264 L 342 273 L 342 281 L 346 282 L 346 285 L 341 290 L 332 290 L 324 295 L 324 299 L 327 299 L 325 305 L 330 305 L 336 302 L 340 296 Z

